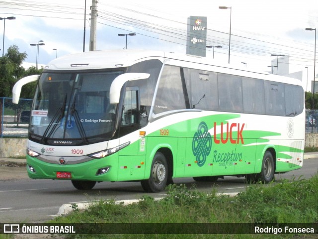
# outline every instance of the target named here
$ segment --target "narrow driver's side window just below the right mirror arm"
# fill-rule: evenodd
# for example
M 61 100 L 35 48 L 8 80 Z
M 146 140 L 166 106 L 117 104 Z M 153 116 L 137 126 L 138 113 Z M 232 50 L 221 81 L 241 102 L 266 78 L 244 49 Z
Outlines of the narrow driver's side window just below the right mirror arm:
M 140 111 L 138 90 L 136 87 L 129 87 L 125 92 L 120 122 L 120 135 L 126 135 L 137 130 L 139 128 L 139 121 Z

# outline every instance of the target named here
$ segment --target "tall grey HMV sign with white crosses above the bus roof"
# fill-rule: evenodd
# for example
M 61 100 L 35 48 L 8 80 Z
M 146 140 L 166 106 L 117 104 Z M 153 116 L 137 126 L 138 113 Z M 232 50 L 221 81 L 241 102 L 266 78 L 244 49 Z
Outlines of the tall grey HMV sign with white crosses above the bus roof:
M 187 54 L 204 56 L 207 44 L 207 17 L 189 16 L 187 29 Z

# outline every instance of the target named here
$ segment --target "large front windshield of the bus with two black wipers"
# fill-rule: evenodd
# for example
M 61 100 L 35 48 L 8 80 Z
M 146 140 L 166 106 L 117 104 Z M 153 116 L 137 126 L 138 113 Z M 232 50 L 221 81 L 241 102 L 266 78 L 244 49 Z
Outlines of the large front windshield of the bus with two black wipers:
M 109 103 L 109 89 L 122 73 L 43 73 L 31 110 L 30 137 L 57 145 L 109 139 L 116 114 L 116 105 Z

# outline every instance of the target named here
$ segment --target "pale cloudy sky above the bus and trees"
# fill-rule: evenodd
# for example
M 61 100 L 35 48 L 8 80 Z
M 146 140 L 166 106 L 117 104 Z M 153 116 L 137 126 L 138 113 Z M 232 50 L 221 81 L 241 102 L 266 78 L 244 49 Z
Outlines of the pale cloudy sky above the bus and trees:
M 15 44 L 27 53 L 26 62 L 35 63 L 36 47 L 30 44 L 40 40 L 45 45 L 39 46 L 39 64 L 82 52 L 84 22 L 88 51 L 91 4 L 86 0 L 84 21 L 85 0 L 0 0 L 0 17 L 16 17 L 5 20 L 4 54 Z M 305 28 L 318 27 L 317 0 L 98 0 L 97 11 L 96 50 L 123 49 L 126 38 L 117 34 L 136 33 L 128 36 L 128 49 L 185 53 L 187 18 L 206 16 L 207 45 L 222 46 L 215 48 L 214 60 L 223 63 L 228 63 L 231 16 L 231 64 L 270 72 L 276 59 L 271 54 L 289 55 L 290 73 L 304 71 L 304 88 L 311 88 L 306 81 L 307 69 L 308 81 L 314 79 L 315 31 Z M 2 41 L 0 34 L 0 54 Z M 213 58 L 213 48 L 206 57 Z

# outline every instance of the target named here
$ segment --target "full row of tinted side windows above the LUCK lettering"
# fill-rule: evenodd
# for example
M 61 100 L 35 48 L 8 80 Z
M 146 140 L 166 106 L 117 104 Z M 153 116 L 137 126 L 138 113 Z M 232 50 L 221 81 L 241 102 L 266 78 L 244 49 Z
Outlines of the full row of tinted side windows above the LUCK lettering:
M 198 69 L 181 68 L 181 72 L 186 88 L 182 88 L 180 68 L 165 66 L 155 114 L 190 108 L 294 117 L 304 110 L 301 86 Z M 190 106 L 185 104 L 188 101 Z

